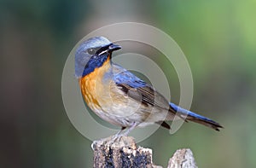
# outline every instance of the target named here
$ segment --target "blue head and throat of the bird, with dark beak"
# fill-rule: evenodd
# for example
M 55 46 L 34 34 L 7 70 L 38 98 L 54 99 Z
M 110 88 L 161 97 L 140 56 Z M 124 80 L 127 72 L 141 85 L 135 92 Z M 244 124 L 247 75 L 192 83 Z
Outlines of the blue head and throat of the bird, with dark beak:
M 84 77 L 96 67 L 102 67 L 108 56 L 111 57 L 113 50 L 117 49 L 121 47 L 103 37 L 90 38 L 81 43 L 75 54 L 76 77 Z

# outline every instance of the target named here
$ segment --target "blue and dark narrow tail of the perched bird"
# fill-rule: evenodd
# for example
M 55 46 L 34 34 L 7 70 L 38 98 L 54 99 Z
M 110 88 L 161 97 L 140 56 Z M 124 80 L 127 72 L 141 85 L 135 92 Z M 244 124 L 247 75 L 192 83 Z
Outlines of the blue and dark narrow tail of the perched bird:
M 199 123 L 201 125 L 206 125 L 214 130 L 219 130 L 218 128 L 223 128 L 223 126 L 219 125 L 217 122 L 213 121 L 212 119 L 208 119 L 203 117 L 197 113 L 190 112 L 182 107 L 178 107 L 176 104 L 170 102 L 170 107 L 177 115 L 185 120 L 194 121 L 195 123 Z

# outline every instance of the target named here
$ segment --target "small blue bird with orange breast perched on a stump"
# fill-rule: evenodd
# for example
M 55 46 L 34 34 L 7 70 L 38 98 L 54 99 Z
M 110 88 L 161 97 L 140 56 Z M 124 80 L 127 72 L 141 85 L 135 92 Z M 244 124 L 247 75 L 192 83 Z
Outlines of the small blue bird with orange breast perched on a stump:
M 108 38 L 89 38 L 75 52 L 75 76 L 81 95 L 101 119 L 121 129 L 115 135 L 127 136 L 136 127 L 160 125 L 170 130 L 166 121 L 183 119 L 214 130 L 222 125 L 166 100 L 154 87 L 112 61 L 113 51 L 121 46 Z

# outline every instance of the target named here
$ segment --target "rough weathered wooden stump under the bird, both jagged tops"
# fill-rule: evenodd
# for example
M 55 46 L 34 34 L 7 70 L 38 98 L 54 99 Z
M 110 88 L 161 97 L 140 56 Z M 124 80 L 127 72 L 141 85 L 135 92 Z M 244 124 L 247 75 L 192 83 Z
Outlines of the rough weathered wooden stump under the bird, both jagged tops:
M 108 137 L 91 144 L 94 151 L 94 167 L 104 168 L 161 168 L 152 161 L 152 149 L 137 147 L 134 138 L 121 136 L 118 141 Z M 190 149 L 179 149 L 169 160 L 168 168 L 195 168 Z

